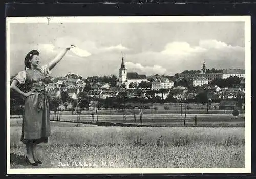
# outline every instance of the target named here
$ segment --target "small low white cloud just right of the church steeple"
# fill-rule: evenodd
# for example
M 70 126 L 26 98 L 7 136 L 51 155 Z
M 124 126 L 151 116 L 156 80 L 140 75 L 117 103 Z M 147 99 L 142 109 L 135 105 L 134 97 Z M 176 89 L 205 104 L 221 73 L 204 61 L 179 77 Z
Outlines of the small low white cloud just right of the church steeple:
M 165 68 L 162 68 L 160 65 L 154 65 L 154 66 L 143 66 L 140 63 L 133 63 L 133 62 L 125 62 L 125 66 L 128 69 L 129 72 L 134 71 L 138 73 L 144 73 L 144 74 L 156 74 L 156 73 L 164 73 L 166 72 Z

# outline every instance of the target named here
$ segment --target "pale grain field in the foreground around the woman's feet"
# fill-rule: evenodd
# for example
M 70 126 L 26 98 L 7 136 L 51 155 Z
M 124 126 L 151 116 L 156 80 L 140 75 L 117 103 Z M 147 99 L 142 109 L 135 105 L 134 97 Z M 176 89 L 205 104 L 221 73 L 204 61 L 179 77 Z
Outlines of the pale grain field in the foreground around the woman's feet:
M 21 119 L 10 122 L 11 168 L 29 168 L 25 146 L 19 141 Z M 38 167 L 242 168 L 244 132 L 244 127 L 76 127 L 52 121 L 49 143 L 38 145 L 43 162 Z

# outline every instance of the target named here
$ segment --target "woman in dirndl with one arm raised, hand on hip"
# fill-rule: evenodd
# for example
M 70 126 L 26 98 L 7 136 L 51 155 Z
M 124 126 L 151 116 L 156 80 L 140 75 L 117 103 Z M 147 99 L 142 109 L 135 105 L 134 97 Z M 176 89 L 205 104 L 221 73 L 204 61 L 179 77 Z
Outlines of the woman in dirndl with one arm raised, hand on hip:
M 25 57 L 25 70 L 18 72 L 10 88 L 25 96 L 24 118 L 21 141 L 26 144 L 26 162 L 37 166 L 42 162 L 36 154 L 36 145 L 47 143 L 50 136 L 50 110 L 45 91 L 46 77 L 51 69 L 65 56 L 71 47 L 65 48 L 51 62 L 39 65 L 39 52 L 30 51 Z M 25 84 L 28 92 L 21 91 L 17 85 Z

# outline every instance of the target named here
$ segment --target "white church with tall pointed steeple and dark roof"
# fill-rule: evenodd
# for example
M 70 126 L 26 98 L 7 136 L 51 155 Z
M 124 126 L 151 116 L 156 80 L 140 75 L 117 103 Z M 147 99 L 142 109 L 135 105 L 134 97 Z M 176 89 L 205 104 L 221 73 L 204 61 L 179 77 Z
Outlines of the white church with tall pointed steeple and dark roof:
M 138 85 L 142 81 L 148 82 L 146 75 L 139 75 L 137 72 L 127 72 L 122 57 L 121 68 L 119 69 L 119 85 L 125 84 L 125 88 L 129 89 L 130 83 Z

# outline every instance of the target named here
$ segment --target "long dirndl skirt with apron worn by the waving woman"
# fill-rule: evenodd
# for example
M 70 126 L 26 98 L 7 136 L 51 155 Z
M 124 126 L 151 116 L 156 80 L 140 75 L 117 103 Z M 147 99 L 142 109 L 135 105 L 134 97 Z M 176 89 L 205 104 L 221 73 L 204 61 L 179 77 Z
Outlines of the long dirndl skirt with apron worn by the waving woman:
M 37 92 L 25 99 L 21 140 L 24 144 L 48 142 L 50 110 L 46 94 Z

